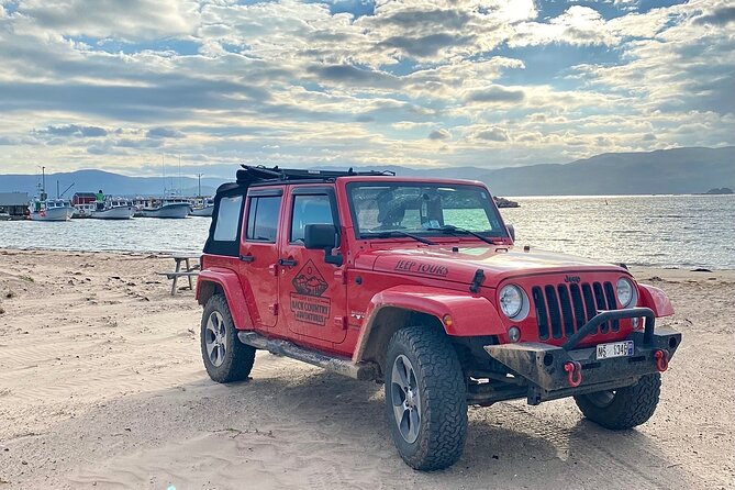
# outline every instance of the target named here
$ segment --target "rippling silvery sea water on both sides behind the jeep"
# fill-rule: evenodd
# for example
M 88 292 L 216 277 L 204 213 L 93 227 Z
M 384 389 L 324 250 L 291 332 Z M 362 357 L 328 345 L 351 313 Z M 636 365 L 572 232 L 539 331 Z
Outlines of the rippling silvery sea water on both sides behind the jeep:
M 517 245 L 638 266 L 735 269 L 735 196 L 513 198 Z M 0 247 L 198 253 L 210 220 L 0 221 Z

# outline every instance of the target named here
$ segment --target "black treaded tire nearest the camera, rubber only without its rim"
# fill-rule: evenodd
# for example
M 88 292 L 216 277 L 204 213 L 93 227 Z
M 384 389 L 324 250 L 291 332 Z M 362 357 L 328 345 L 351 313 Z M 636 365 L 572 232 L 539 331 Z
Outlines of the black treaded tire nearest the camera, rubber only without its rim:
M 419 434 L 411 444 L 399 431 L 391 402 L 391 374 L 401 355 L 413 366 L 421 400 Z M 393 443 L 410 467 L 432 471 L 457 463 L 467 436 L 466 390 L 459 359 L 444 332 L 417 325 L 393 334 L 386 359 L 386 409 Z

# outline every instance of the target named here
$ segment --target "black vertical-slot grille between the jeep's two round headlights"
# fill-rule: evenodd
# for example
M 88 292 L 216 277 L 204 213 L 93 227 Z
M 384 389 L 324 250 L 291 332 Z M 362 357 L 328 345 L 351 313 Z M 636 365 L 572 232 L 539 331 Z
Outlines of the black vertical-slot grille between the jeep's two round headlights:
M 538 338 L 546 341 L 570 336 L 600 310 L 616 310 L 615 289 L 612 282 L 560 283 L 534 286 L 531 290 Z M 605 322 L 598 328 L 606 334 L 617 332 L 619 322 Z

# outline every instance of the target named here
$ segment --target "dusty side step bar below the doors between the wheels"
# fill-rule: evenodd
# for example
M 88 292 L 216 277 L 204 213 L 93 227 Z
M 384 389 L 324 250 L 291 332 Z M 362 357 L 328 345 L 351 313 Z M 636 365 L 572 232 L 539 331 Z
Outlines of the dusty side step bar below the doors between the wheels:
M 380 376 L 380 369 L 374 363 L 354 363 L 346 357 L 328 356 L 288 341 L 267 338 L 255 332 L 237 332 L 237 338 L 255 348 L 319 366 L 359 381 L 372 381 Z

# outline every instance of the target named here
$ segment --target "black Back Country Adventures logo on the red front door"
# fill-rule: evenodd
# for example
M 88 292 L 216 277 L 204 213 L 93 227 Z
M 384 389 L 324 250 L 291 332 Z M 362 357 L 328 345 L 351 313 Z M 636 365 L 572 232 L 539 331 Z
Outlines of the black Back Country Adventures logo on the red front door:
M 297 321 L 326 325 L 330 318 L 331 301 L 323 298 L 328 283 L 320 274 L 312 260 L 299 270 L 293 280 L 294 292 L 291 292 L 291 311 Z

